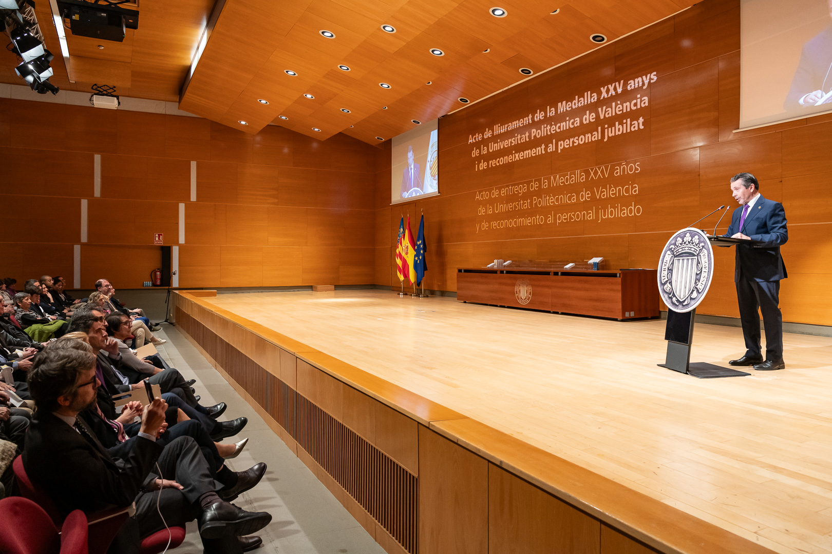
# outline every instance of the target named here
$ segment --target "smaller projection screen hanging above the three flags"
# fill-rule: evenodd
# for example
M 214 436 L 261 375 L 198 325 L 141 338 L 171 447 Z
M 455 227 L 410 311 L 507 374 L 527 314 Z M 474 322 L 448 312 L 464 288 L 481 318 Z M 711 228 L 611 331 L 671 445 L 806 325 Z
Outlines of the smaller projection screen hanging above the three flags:
M 439 194 L 438 121 L 394 137 L 390 203 Z

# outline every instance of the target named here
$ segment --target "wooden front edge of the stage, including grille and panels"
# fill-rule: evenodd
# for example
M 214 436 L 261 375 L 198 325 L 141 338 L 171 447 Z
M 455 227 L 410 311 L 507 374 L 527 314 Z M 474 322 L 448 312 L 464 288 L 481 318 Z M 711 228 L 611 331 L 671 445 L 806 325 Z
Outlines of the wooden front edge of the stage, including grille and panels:
M 176 326 L 390 554 L 773 552 L 176 291 Z

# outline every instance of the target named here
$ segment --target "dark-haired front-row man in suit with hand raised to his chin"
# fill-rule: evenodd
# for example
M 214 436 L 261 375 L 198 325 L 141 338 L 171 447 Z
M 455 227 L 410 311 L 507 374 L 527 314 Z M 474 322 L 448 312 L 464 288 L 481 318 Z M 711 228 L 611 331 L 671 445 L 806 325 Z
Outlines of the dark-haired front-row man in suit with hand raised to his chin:
M 141 374 L 136 374 L 138 379 L 131 382 L 121 372 L 120 368 L 126 366 L 122 363 L 122 355 L 118 351 L 116 340 L 107 336 L 104 317 L 100 311 L 81 313 L 72 317 L 70 331 L 80 331 L 87 334 L 87 341 L 97 352 L 98 378 L 102 383 L 102 390 L 106 391 L 107 395 L 117 395 L 144 387 Z M 159 385 L 163 398 L 170 398 L 166 395 L 171 395 L 181 399 L 181 403 L 174 399 L 171 399 L 171 403 L 176 404 L 176 407 L 182 409 L 189 418 L 199 420 L 212 439 L 220 440 L 234 436 L 240 433 L 245 424 L 248 423 L 248 419 L 245 417 L 232 421 L 216 421 L 214 418 L 220 417 L 220 414 L 225 412 L 225 403 L 220 402 L 220 404 L 207 408 L 200 405 L 194 397 L 194 390 L 191 388 L 194 381 L 186 381 L 181 373 L 174 368 L 162 370 L 156 375 L 152 375 L 149 381 L 151 385 Z M 105 414 L 108 418 L 115 419 L 115 406 L 111 406 L 111 409 L 106 410 Z

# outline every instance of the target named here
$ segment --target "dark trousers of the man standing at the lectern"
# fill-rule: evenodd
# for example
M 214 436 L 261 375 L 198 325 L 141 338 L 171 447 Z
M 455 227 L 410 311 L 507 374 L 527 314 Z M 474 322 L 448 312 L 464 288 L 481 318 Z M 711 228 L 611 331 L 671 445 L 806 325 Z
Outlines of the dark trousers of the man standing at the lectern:
M 765 359 L 783 360 L 783 314 L 780 312 L 780 281 L 757 282 L 740 276 L 736 282 L 740 321 L 745 337 L 745 355 L 761 357 L 760 313 L 765 328 Z

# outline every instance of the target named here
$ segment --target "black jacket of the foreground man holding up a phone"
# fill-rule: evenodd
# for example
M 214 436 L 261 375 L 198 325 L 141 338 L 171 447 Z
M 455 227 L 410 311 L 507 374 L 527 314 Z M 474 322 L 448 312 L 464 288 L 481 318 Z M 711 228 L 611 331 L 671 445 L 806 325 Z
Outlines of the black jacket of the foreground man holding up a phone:
M 38 411 L 27 431 L 23 468 L 64 515 L 128 506 L 162 450 L 141 437 L 131 442 L 124 458 L 112 458 L 97 441 L 90 444 L 55 415 Z

